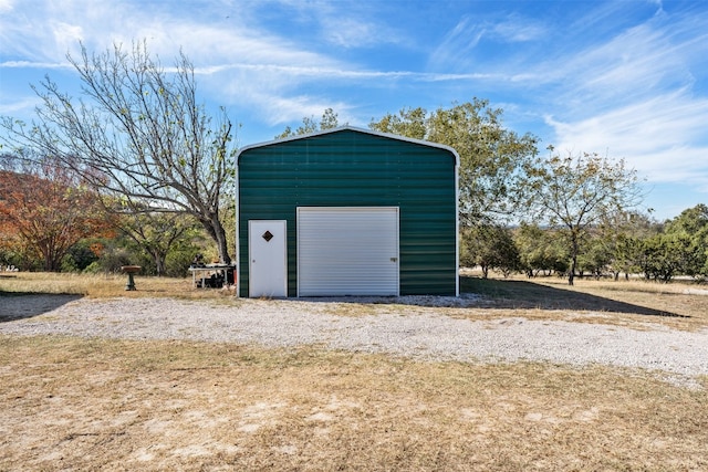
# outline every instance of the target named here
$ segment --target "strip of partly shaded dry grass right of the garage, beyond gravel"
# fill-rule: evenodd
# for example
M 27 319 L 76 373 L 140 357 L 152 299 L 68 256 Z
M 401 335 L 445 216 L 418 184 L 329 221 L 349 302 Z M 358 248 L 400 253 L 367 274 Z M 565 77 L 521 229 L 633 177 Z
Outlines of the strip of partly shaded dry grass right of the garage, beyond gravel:
M 634 328 L 660 324 L 676 329 L 708 328 L 708 287 L 675 282 L 607 281 L 522 276 L 482 280 L 461 277 L 462 292 L 485 296 L 480 310 L 464 314 L 476 318 L 522 316 L 529 319 L 564 319 Z

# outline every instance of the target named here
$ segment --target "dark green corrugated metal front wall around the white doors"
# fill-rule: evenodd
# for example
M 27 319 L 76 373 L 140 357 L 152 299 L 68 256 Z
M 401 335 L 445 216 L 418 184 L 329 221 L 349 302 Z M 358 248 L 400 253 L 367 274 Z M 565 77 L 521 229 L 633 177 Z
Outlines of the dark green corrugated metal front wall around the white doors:
M 400 294 L 457 289 L 456 157 L 439 147 L 341 129 L 238 157 L 240 295 L 248 294 L 248 220 L 288 221 L 288 294 L 296 296 L 298 207 L 398 207 Z

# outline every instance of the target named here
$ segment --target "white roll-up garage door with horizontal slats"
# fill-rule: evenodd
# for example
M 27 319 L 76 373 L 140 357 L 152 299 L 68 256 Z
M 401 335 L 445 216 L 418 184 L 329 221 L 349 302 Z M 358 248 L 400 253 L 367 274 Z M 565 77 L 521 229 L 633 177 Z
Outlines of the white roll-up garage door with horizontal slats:
M 398 295 L 398 208 L 298 208 L 298 296 Z

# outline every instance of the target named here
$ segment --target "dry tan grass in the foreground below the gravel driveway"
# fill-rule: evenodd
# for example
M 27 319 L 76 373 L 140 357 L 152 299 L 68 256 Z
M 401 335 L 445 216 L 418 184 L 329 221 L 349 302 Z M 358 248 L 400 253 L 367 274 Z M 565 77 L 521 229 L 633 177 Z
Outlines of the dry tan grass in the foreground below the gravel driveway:
M 0 470 L 708 468 L 706 389 L 636 371 L 55 337 L 0 365 Z

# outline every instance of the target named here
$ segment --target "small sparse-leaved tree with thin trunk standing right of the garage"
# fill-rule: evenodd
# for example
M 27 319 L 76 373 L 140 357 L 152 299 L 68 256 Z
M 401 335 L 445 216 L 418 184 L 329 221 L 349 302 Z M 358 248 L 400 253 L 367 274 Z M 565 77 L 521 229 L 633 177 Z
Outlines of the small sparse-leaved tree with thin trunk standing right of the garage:
M 551 153 L 553 148 L 550 147 Z M 624 160 L 612 161 L 596 154 L 569 154 L 529 161 L 525 171 L 525 204 L 529 217 L 561 232 L 568 243 L 568 283 L 573 285 L 577 259 L 590 231 L 608 216 L 634 208 L 641 201 L 636 171 Z

